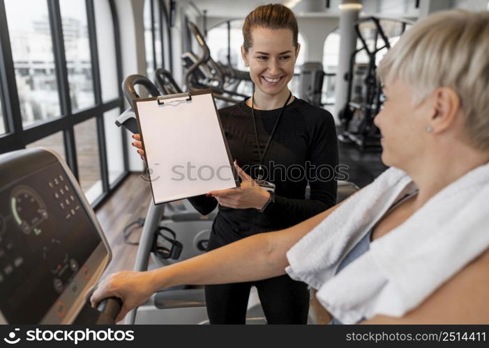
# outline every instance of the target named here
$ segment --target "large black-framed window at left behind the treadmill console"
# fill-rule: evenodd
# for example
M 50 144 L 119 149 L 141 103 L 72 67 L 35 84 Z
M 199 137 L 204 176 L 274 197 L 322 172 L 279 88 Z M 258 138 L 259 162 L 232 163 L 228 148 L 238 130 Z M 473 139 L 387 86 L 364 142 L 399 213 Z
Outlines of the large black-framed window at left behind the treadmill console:
M 0 152 L 59 152 L 97 207 L 128 174 L 114 0 L 0 0 Z

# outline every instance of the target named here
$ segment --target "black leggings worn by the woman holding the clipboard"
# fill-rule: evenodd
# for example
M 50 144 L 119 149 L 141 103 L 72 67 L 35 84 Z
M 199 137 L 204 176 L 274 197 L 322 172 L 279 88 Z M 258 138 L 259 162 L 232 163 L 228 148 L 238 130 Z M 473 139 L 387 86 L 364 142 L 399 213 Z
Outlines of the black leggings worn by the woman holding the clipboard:
M 218 248 L 209 241 L 208 250 Z M 257 287 L 259 301 L 268 324 L 307 324 L 309 290 L 287 274 L 246 283 L 206 285 L 207 315 L 211 324 L 245 324 L 246 307 L 252 286 Z

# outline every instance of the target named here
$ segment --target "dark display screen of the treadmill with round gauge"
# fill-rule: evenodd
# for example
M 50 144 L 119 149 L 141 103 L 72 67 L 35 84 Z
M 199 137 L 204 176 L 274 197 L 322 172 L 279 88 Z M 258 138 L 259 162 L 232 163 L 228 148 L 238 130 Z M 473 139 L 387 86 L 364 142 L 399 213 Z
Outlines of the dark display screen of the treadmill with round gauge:
M 90 277 L 92 270 L 84 263 L 100 242 L 59 162 L 4 185 L 0 191 L 0 310 L 6 321 L 38 323 L 68 287 L 75 294 L 82 285 L 73 279 L 77 274 Z

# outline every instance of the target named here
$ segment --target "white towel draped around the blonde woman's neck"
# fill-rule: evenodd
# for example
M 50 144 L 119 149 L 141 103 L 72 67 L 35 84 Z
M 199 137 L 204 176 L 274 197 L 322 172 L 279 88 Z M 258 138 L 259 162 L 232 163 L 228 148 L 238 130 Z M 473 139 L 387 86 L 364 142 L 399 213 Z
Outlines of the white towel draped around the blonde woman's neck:
M 349 198 L 288 252 L 292 278 L 344 324 L 374 315 L 401 317 L 489 248 L 489 164 L 428 200 L 336 276 L 345 254 L 404 193 L 411 178 L 389 168 Z

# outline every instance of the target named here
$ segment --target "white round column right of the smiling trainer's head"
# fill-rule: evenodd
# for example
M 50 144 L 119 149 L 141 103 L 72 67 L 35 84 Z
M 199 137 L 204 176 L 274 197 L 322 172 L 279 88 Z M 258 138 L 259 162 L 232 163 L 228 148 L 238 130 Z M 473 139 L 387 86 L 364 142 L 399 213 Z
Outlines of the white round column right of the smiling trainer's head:
M 339 124 L 340 110 L 347 101 L 348 81 L 345 74 L 349 72 L 349 61 L 356 49 L 356 31 L 354 24 L 359 18 L 361 3 L 354 0 L 343 0 L 340 5 L 340 54 L 335 83 L 335 111 L 333 116 Z

